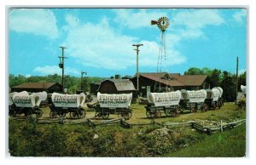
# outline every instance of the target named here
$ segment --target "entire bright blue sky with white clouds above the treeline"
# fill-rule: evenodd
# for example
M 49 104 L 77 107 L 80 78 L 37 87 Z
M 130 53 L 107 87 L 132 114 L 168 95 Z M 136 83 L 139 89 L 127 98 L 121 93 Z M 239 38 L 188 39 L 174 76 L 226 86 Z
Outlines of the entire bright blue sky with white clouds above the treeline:
M 208 67 L 239 73 L 247 68 L 246 9 L 9 9 L 9 74 L 75 77 L 134 76 L 139 71 L 181 73 Z M 167 17 L 166 56 L 151 20 Z M 162 56 L 162 58 L 161 58 Z M 160 62 L 158 60 L 160 59 Z

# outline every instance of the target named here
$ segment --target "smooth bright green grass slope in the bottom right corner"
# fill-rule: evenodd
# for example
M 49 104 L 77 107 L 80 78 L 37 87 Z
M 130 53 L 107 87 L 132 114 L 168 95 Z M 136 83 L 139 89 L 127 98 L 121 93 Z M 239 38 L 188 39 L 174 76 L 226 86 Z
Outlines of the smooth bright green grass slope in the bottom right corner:
M 241 157 L 246 155 L 246 126 L 212 134 L 195 145 L 165 154 L 172 157 Z

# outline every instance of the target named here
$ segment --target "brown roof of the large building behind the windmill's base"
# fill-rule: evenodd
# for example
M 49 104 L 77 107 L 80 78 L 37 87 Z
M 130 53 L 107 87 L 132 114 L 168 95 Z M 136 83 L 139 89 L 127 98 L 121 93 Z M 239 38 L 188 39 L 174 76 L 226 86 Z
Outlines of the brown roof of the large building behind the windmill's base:
M 207 75 L 180 75 L 166 72 L 140 73 L 140 76 L 172 87 L 201 86 L 207 79 Z

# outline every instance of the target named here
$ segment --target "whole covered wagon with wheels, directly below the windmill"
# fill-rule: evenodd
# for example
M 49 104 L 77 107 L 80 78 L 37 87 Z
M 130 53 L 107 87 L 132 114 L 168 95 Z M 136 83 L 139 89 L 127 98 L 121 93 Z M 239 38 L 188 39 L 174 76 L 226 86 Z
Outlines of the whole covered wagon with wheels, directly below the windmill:
M 145 106 L 148 118 L 160 117 L 161 113 L 165 113 L 167 117 L 179 115 L 179 101 L 181 100 L 181 92 L 179 90 L 168 93 L 149 93 L 148 105 Z

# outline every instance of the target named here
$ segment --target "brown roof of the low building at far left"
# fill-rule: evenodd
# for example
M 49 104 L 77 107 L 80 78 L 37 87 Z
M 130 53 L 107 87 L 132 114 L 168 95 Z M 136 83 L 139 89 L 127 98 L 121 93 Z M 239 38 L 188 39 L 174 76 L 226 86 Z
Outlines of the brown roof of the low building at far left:
M 49 82 L 44 82 L 44 83 L 22 83 L 20 85 L 14 86 L 12 88 L 50 88 L 53 85 L 58 84 L 61 85 L 60 83 L 49 83 Z

